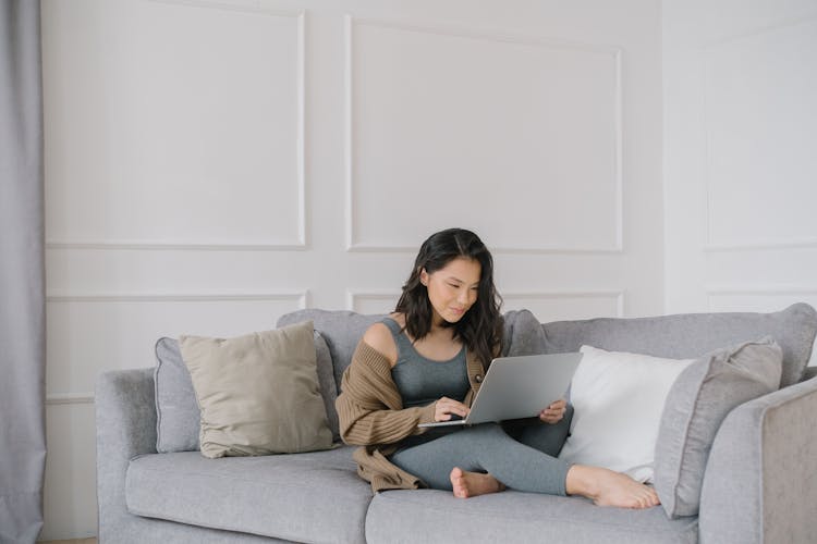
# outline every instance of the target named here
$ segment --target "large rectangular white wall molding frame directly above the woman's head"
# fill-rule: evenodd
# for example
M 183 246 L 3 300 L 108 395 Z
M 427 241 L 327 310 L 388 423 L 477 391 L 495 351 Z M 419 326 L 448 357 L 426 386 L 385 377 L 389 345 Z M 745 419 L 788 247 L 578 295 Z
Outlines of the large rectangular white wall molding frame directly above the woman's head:
M 405 245 L 400 242 L 389 244 L 373 244 L 366 243 L 361 239 L 359 230 L 355 226 L 357 208 L 355 206 L 355 194 L 357 190 L 357 165 L 355 164 L 355 126 L 354 126 L 354 97 L 356 89 L 354 88 L 354 47 L 355 47 L 355 28 L 361 26 L 378 27 L 386 29 L 393 29 L 398 32 L 412 32 L 426 34 L 429 36 L 441 36 L 441 37 L 462 37 L 470 38 L 480 41 L 488 41 L 495 44 L 511 44 L 529 46 L 536 48 L 544 48 L 556 51 L 570 51 L 573 53 L 585 52 L 593 54 L 605 54 L 609 55 L 610 62 L 613 64 L 614 70 L 614 83 L 610 90 L 614 102 L 614 131 L 611 135 L 613 147 L 614 147 L 614 165 L 613 171 L 610 172 L 610 177 L 614 183 L 614 196 L 612 197 L 611 206 L 614 207 L 614 225 L 615 230 L 614 242 L 609 246 L 599 247 L 585 247 L 576 248 L 569 245 L 553 244 L 553 245 L 514 245 L 514 244 L 495 244 L 491 248 L 493 252 L 499 254 L 535 254 L 535 255 L 609 255 L 609 254 L 621 254 L 623 251 L 623 171 L 622 171 L 622 141 L 623 141 L 623 128 L 622 128 L 622 50 L 613 46 L 605 45 L 588 45 L 569 42 L 564 40 L 549 39 L 544 37 L 529 37 L 529 36 L 517 36 L 503 34 L 500 32 L 486 32 L 478 29 L 466 29 L 466 28 L 451 28 L 442 27 L 432 24 L 407 24 L 397 23 L 392 21 L 373 20 L 373 18 L 361 18 L 353 15 L 345 15 L 345 138 L 344 138 L 344 153 L 345 153 L 345 233 L 346 233 L 346 251 L 405 251 L 411 252 L 416 250 L 416 247 Z M 577 210 L 578 211 L 578 210 Z

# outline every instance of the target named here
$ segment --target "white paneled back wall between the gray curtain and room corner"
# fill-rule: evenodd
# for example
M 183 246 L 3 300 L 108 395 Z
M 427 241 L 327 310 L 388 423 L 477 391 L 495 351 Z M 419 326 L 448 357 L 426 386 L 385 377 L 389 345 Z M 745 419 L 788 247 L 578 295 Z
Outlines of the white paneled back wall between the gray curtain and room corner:
M 657 0 L 44 0 L 42 537 L 96 532 L 99 372 L 153 366 L 160 336 L 388 311 L 437 230 L 480 234 L 505 309 L 660 313 L 660 21 Z

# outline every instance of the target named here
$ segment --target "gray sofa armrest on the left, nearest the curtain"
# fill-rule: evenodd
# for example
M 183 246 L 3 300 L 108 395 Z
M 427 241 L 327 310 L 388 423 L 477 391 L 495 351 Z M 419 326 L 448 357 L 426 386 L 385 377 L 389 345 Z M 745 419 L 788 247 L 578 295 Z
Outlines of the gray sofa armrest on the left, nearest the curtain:
M 115 370 L 96 385 L 97 506 L 100 542 L 117 542 L 127 514 L 125 472 L 137 455 L 156 453 L 154 369 Z

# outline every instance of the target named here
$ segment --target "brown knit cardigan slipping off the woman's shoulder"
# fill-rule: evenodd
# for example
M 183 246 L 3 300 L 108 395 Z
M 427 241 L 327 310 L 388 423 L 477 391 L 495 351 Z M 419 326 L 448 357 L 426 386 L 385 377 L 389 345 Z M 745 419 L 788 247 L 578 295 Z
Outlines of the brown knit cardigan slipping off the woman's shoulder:
M 465 360 L 471 391 L 463 403 L 471 406 L 485 369 L 471 351 Z M 417 424 L 434 421 L 435 405 L 403 408 L 389 359 L 363 341 L 357 344 L 352 362 L 343 372 L 336 407 L 343 442 L 363 446 L 354 453 L 357 473 L 371 483 L 375 493 L 425 486 L 419 478 L 392 465 L 388 456 L 398 449 L 401 440 L 426 432 Z

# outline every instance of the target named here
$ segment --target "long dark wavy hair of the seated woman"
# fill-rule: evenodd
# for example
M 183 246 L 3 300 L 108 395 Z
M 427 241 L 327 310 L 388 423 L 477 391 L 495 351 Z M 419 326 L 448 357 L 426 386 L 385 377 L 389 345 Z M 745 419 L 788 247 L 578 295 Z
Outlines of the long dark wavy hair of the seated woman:
M 405 330 L 412 338 L 418 341 L 426 336 L 431 331 L 434 310 L 428 289 L 419 281 L 420 272 L 425 269 L 432 274 L 456 258 L 479 262 L 477 299 L 460 321 L 444 322 L 443 326 L 453 327 L 454 338 L 460 338 L 487 367 L 501 349 L 502 316 L 499 309 L 502 298 L 493 286 L 493 258 L 473 232 L 448 228 L 432 234 L 423 243 L 394 311 L 405 316 Z

